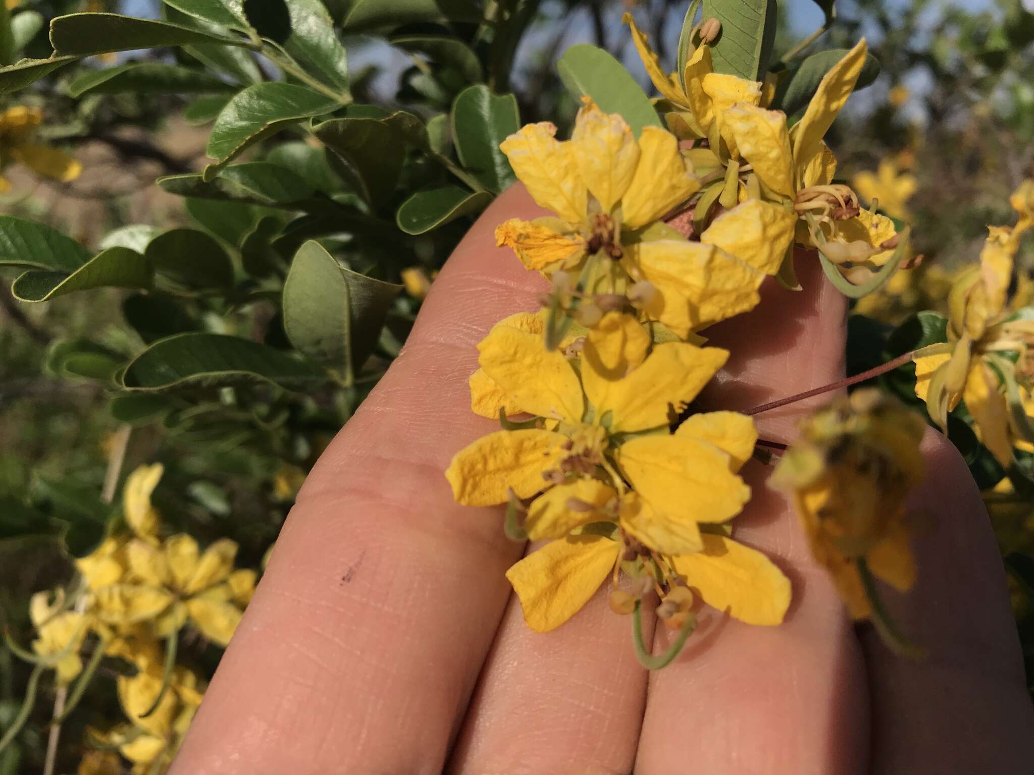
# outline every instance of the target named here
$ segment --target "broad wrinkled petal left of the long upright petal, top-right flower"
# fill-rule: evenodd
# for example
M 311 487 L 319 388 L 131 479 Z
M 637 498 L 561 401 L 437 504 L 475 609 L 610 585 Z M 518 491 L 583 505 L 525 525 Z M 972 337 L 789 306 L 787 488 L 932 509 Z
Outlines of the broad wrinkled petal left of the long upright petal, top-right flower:
M 777 193 L 793 196 L 793 153 L 786 114 L 737 104 L 723 114 L 722 123 L 761 182 Z

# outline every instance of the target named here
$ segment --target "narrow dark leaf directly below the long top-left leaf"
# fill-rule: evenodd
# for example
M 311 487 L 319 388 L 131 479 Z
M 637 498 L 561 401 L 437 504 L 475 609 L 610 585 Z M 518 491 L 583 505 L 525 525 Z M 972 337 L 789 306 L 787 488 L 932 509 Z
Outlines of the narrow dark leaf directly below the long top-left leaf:
M 77 75 L 68 85 L 68 94 L 72 97 L 88 93 L 199 94 L 225 91 L 237 91 L 237 87 L 205 70 L 160 62 L 88 70 Z

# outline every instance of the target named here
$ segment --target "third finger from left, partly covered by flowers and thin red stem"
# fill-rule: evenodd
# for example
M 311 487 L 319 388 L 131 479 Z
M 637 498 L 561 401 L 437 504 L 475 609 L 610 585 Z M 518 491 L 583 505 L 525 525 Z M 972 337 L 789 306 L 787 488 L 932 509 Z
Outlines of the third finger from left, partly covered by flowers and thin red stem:
M 753 312 L 704 332 L 732 353 L 706 409 L 742 410 L 843 376 L 844 299 L 814 257 L 797 268 L 802 291 L 771 284 Z M 761 436 L 788 439 L 807 406 L 759 414 Z M 735 538 L 783 568 L 793 602 L 776 627 L 702 612 L 680 657 L 650 676 L 636 774 L 864 772 L 865 678 L 851 624 L 786 499 L 766 486 L 768 469 L 752 462 L 743 473 L 752 499 Z

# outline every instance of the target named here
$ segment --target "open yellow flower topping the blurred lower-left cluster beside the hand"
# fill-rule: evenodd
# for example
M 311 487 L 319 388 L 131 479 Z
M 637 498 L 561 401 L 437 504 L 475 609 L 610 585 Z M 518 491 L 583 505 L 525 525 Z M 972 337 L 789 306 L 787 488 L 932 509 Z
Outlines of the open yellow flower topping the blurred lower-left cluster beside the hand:
M 185 533 L 160 547 L 126 545 L 127 580 L 94 592 L 98 617 L 111 624 L 153 621 L 166 636 L 189 620 L 209 640 L 230 642 L 254 586 L 251 571 L 235 571 L 237 544 L 221 538 L 201 553 Z

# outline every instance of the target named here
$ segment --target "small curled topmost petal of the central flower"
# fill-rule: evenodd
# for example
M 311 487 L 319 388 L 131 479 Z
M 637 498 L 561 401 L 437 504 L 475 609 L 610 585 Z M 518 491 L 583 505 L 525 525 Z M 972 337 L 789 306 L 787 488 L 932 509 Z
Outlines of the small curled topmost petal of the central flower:
M 608 312 L 585 337 L 582 350 L 582 385 L 597 408 L 608 406 L 614 382 L 646 358 L 650 335 L 632 315 Z

